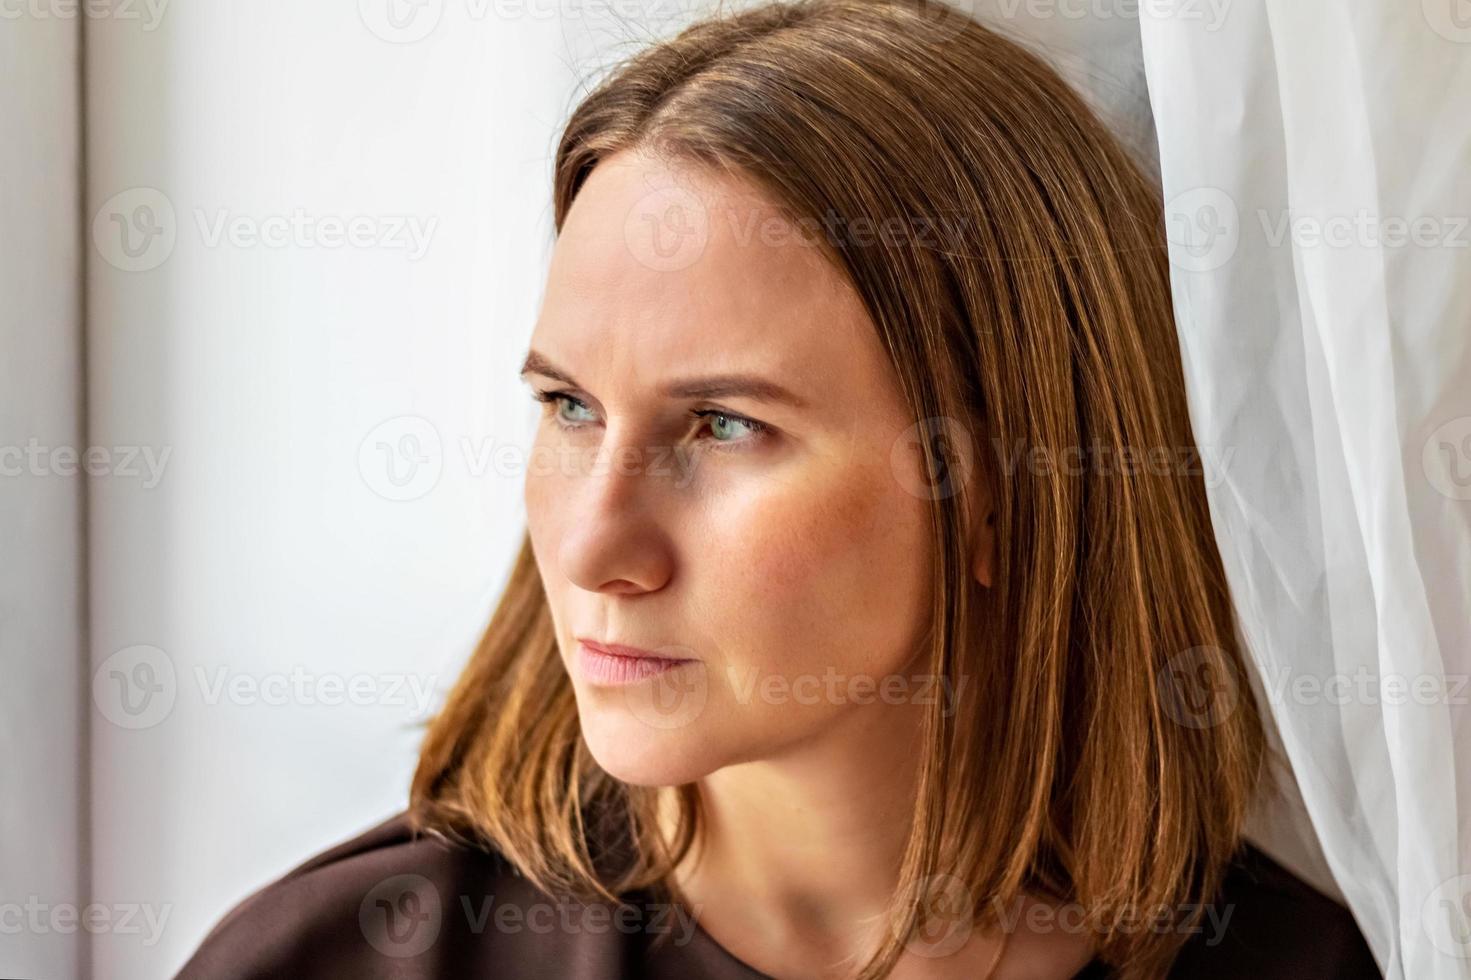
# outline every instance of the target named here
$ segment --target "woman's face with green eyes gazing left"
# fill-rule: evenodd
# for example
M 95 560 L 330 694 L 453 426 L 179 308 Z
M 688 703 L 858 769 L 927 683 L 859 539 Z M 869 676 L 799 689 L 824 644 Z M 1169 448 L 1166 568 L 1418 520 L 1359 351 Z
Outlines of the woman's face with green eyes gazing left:
M 584 739 L 628 783 L 944 697 L 909 670 L 930 590 L 916 427 L 858 296 L 797 231 L 734 178 L 622 153 L 552 256 L 524 377 L 562 396 L 528 530 Z M 688 662 L 613 684 L 584 639 Z

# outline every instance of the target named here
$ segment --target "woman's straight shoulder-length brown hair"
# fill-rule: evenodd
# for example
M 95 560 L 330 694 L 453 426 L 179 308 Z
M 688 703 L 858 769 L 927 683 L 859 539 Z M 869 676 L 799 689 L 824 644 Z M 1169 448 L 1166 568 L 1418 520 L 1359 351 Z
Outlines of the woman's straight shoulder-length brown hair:
M 969 572 L 965 486 L 931 494 L 928 670 L 974 683 L 964 711 L 928 709 L 900 881 L 955 876 L 980 927 L 1024 889 L 1075 903 L 1071 927 L 1121 976 L 1164 976 L 1268 756 L 1194 465 L 1158 188 L 1043 60 L 921 0 L 787 0 L 621 62 L 558 146 L 559 231 L 593 168 L 630 149 L 737 175 L 827 228 L 816 244 L 913 419 L 968 433 L 990 481 L 990 589 Z M 931 475 L 965 462 L 955 440 L 921 443 Z M 697 839 L 696 787 L 677 789 L 672 846 L 659 795 L 588 753 L 524 540 L 427 733 L 416 824 L 612 901 L 672 889 Z M 593 820 L 624 859 L 597 853 Z M 888 973 L 916 905 L 896 899 L 856 976 Z

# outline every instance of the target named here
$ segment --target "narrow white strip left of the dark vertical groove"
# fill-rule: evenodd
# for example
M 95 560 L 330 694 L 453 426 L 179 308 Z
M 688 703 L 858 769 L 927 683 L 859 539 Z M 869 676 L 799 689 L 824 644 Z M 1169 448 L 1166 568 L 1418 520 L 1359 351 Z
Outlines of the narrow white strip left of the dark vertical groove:
M 0 19 L 0 976 L 71 977 L 82 946 L 84 553 L 78 38 Z M 56 453 L 54 450 L 62 450 Z M 40 923 L 32 927 L 29 923 Z

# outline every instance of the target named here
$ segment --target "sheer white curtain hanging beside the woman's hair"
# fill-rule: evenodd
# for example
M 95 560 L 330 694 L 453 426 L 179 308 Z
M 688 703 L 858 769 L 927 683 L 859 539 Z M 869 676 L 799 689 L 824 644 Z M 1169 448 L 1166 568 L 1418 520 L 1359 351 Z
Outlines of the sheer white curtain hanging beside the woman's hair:
M 1140 28 L 1253 681 L 1386 976 L 1471 976 L 1471 7 Z

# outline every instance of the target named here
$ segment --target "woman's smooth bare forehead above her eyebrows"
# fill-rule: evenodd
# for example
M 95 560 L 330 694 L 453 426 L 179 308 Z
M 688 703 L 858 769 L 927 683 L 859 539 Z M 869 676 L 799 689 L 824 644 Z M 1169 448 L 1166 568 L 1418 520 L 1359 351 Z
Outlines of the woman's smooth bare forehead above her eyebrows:
M 622 365 L 649 384 L 733 372 L 811 391 L 824 380 L 886 377 L 858 294 L 815 244 L 769 231 L 768 222 L 790 224 L 778 209 L 712 178 L 697 196 L 677 197 L 703 213 L 678 215 L 658 197 L 666 177 L 656 162 L 627 156 L 593 172 L 553 250 L 533 349 L 584 372 Z M 666 243 L 703 228 L 699 253 L 662 268 L 649 260 L 660 222 Z

